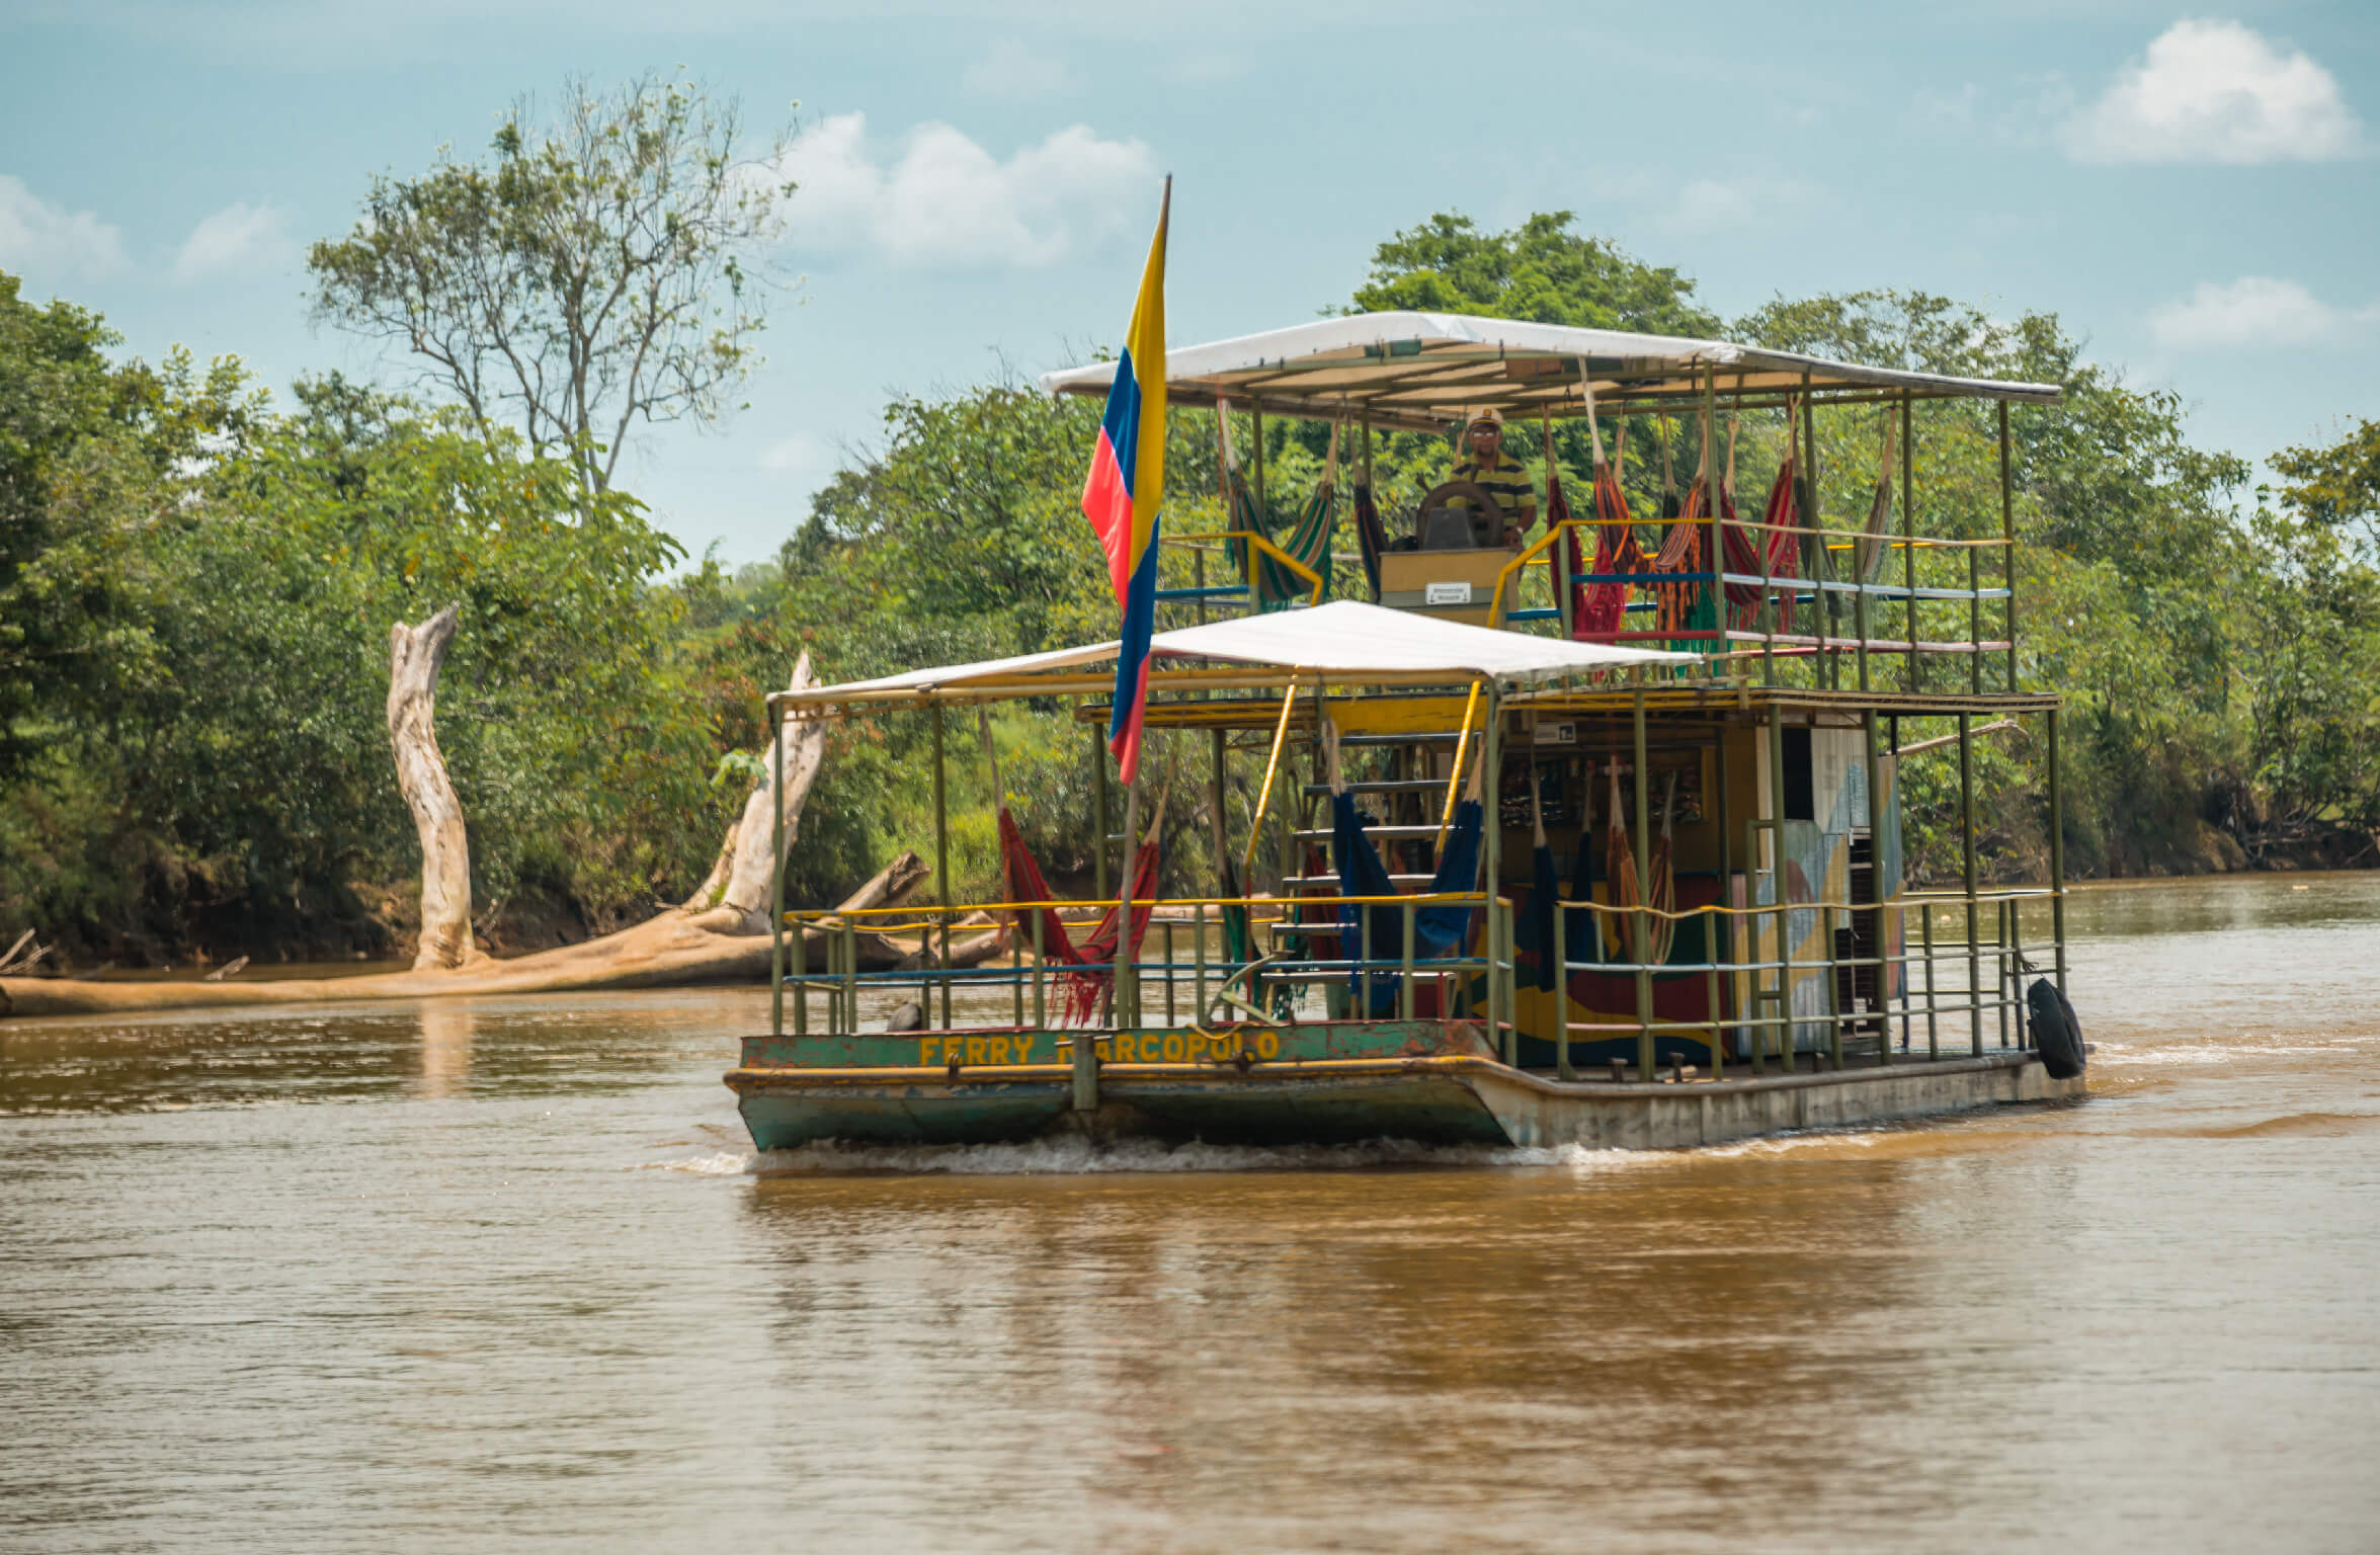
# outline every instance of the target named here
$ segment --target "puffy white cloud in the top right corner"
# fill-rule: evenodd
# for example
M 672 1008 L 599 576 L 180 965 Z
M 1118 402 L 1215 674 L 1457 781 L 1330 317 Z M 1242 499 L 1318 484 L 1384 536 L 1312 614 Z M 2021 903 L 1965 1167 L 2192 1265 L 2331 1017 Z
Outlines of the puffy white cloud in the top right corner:
M 2066 121 L 2078 162 L 2328 162 L 2361 140 L 2328 69 L 2237 21 L 2175 21 Z

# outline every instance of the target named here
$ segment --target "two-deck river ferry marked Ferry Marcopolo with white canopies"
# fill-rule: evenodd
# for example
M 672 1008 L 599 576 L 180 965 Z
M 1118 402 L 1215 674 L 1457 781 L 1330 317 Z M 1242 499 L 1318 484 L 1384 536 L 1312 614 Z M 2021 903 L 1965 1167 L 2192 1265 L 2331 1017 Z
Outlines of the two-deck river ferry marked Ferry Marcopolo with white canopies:
M 1111 371 L 1042 386 L 1104 395 Z M 2056 405 L 2056 386 L 1388 312 L 1173 350 L 1169 398 L 1211 410 L 1226 450 L 1233 417 L 1257 433 L 1250 469 L 1228 467 L 1230 529 L 1166 538 L 1161 610 L 1190 619 L 1150 660 L 1150 738 L 1204 736 L 1211 893 L 1159 898 L 1150 848 L 1104 869 L 1140 807 L 1128 793 L 1109 833 L 1116 643 L 769 698 L 776 760 L 800 722 L 931 722 L 935 905 L 788 912 L 781 867 L 771 1029 L 726 1076 L 754 1145 L 1676 1148 L 2082 1095 L 2059 698 L 2018 683 L 2009 479 L 2011 407 Z M 1921 410 L 1964 417 L 1964 445 L 1997 433 L 1997 531 L 1918 529 Z M 1864 510 L 1818 510 L 1821 414 L 1837 455 L 1844 429 L 1873 429 L 1873 483 L 1847 469 Z M 1357 598 L 1326 598 L 1338 493 L 1299 517 L 1266 505 L 1269 417 L 1361 448 Z M 1640 512 L 1621 441 L 1661 417 L 1706 474 Z M 1747 417 L 1775 464 L 1759 517 L 1711 479 Z M 1592 488 L 1573 512 L 1549 474 L 1523 545 L 1480 524 L 1478 486 L 1376 512 L 1376 431 L 1502 421 L 1552 455 L 1578 419 Z M 1090 729 L 1095 898 L 1040 886 L 1004 814 L 1004 900 L 954 903 L 950 719 L 1026 698 Z M 1954 731 L 1904 745 L 1916 719 Z M 2044 743 L 2047 879 L 1987 888 L 1973 745 L 2009 724 Z M 1904 881 L 1911 760 L 1956 764 L 1954 888 Z M 1233 831 L 1226 795 L 1247 791 Z M 1254 895 L 1259 843 L 1278 888 Z M 2025 907 L 2047 943 L 2025 943 Z M 954 964 L 969 914 L 1012 929 L 1004 962 Z M 871 929 L 923 929 L 921 964 L 862 969 Z M 883 1014 L 890 986 L 916 993 L 904 1019 Z

